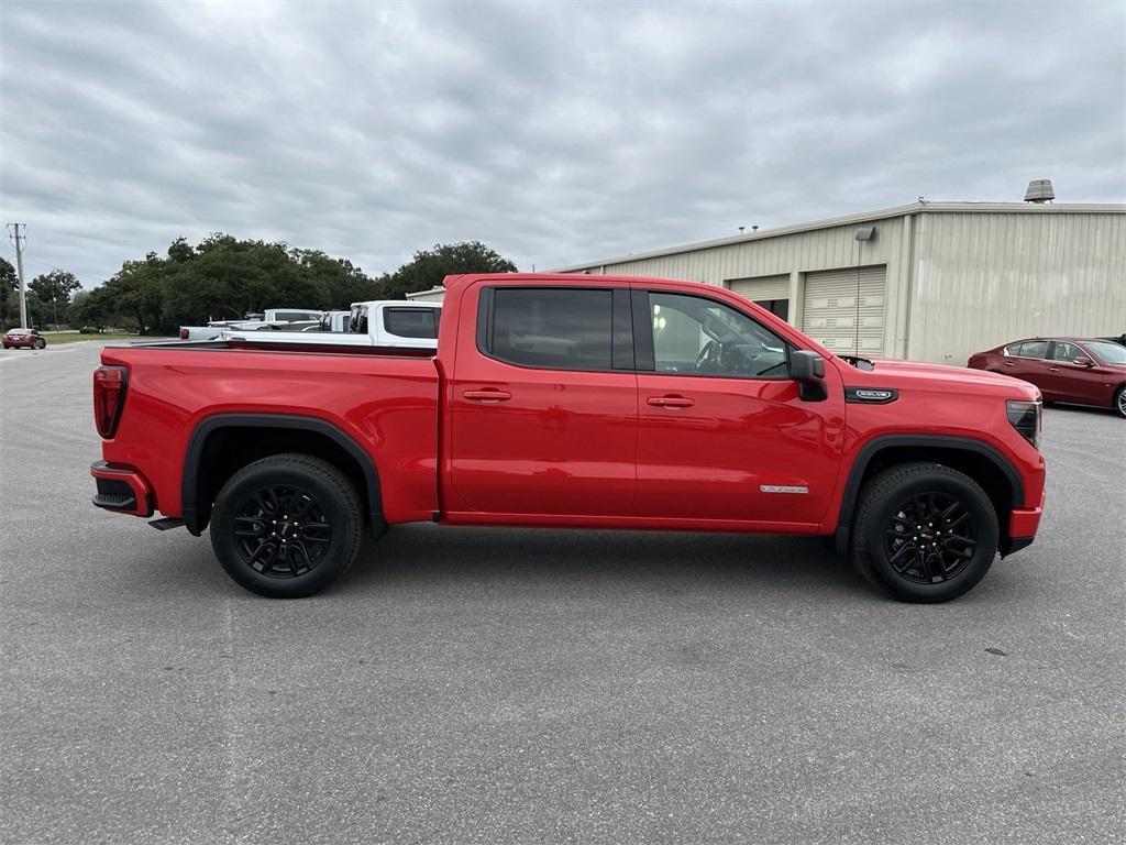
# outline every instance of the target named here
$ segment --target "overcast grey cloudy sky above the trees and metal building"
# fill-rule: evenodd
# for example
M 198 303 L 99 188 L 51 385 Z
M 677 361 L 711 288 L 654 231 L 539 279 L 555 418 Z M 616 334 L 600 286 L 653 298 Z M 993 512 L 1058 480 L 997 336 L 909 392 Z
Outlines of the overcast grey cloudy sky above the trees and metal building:
M 0 217 L 87 286 L 211 231 L 544 269 L 1034 178 L 1126 201 L 1121 0 L 0 0 Z

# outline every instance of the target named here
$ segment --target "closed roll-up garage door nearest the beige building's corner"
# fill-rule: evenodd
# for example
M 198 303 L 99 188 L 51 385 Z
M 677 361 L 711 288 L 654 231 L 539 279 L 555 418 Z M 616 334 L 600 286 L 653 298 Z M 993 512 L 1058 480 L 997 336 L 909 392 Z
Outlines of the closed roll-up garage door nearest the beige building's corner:
M 886 291 L 886 265 L 810 273 L 802 330 L 834 353 L 883 355 Z

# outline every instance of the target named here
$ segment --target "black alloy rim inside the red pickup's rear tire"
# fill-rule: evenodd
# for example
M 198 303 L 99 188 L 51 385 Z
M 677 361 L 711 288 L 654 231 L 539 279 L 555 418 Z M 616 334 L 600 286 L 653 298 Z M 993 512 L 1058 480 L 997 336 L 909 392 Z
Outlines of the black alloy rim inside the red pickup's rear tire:
M 332 543 L 332 523 L 310 491 L 270 484 L 250 492 L 234 517 L 243 562 L 267 578 L 296 578 L 314 569 Z

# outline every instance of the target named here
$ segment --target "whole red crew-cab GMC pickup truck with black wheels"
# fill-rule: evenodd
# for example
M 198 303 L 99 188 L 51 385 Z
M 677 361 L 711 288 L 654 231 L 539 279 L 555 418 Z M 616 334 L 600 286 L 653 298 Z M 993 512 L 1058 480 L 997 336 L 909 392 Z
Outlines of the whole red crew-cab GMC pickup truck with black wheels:
M 1033 542 L 1040 395 L 848 362 L 730 293 L 545 274 L 446 279 L 437 355 L 236 340 L 107 347 L 93 504 L 211 526 L 243 587 L 307 596 L 365 531 L 448 525 L 820 535 L 909 602 Z

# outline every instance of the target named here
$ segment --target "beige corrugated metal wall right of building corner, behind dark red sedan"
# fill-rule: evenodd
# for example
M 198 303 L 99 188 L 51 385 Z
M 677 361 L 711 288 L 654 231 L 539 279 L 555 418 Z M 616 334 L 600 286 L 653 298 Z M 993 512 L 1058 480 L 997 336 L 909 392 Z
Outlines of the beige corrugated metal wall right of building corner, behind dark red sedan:
M 964 365 L 1037 335 L 1126 331 L 1126 214 L 923 213 L 906 356 Z

